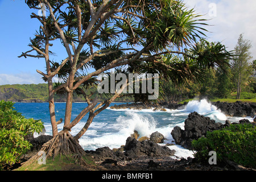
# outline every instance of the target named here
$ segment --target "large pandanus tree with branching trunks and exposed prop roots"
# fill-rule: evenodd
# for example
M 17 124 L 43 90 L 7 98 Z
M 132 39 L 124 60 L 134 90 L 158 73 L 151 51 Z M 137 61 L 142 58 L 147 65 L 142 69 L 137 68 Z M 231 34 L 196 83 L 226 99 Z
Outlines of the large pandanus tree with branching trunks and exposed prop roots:
M 97 76 L 101 73 L 110 74 L 113 69 L 114 74 L 157 73 L 159 82 L 165 79 L 185 84 L 189 80 L 201 79 L 200 73 L 207 68 L 228 64 L 226 60 L 230 57 L 225 46 L 203 39 L 207 31 L 203 28 L 207 25 L 205 19 L 200 19 L 200 15 L 194 14 L 193 9 L 189 10 L 181 1 L 27 0 L 26 3 L 31 9 L 46 9 L 41 16 L 32 13 L 31 18 L 37 19 L 41 25 L 28 45 L 31 49 L 19 57 L 37 57 L 46 62 L 46 72 L 37 72 L 48 82 L 49 90 L 53 139 L 42 148 L 47 156 L 70 152 L 82 155 L 77 140 L 86 132 L 93 118 L 128 88 L 126 79 L 119 89 L 110 92 L 107 100 L 98 103 L 100 93 L 86 90 L 100 84 Z M 53 53 L 51 48 L 59 43 L 66 55 Z M 53 61 L 53 55 L 57 55 L 57 61 Z M 57 84 L 53 83 L 55 77 L 60 78 Z M 63 119 L 55 116 L 53 96 L 56 93 L 67 96 L 64 126 L 59 133 L 57 125 Z M 75 93 L 82 94 L 88 106 L 72 120 Z M 133 95 L 135 101 L 145 102 L 151 93 L 127 94 Z M 86 124 L 73 137 L 69 131 L 87 113 Z

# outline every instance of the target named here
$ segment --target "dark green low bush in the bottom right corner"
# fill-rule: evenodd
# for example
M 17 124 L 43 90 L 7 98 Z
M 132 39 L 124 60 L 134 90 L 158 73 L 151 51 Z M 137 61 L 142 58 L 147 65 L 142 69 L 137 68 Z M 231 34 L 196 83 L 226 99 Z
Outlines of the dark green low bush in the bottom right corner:
M 216 151 L 217 162 L 228 159 L 246 167 L 256 167 L 256 129 L 252 124 L 230 125 L 223 130 L 208 132 L 206 137 L 193 140 L 195 157 L 203 162 L 209 152 Z

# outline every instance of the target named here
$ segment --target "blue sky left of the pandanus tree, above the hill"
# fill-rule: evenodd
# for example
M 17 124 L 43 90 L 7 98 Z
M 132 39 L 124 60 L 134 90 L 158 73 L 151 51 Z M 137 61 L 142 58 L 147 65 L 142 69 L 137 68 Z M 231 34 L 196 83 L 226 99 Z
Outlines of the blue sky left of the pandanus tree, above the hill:
M 24 0 L 0 3 L 0 85 L 40 82 L 36 69 L 44 70 L 43 60 L 18 58 L 30 48 L 27 46 L 30 37 L 39 27 L 39 23 L 30 18 L 32 12 Z

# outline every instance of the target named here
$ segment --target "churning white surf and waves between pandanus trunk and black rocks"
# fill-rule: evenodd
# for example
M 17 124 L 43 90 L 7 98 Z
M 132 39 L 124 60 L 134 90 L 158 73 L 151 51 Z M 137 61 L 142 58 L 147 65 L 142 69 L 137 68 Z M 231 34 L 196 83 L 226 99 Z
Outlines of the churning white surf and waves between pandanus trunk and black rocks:
M 94 118 L 97 121 L 92 122 L 88 131 L 82 136 L 79 141 L 85 150 L 95 150 L 99 147 L 119 148 L 126 143 L 127 137 L 130 137 L 137 130 L 139 137 L 150 137 L 150 134 L 158 131 L 164 135 L 166 143 L 174 143 L 171 136 L 171 131 L 175 126 L 181 127 L 184 130 L 184 121 L 188 114 L 197 111 L 197 113 L 218 120 L 218 122 L 225 122 L 226 119 L 230 121 L 238 120 L 238 118 L 226 117 L 216 106 L 207 102 L 207 100 L 190 101 L 187 106 L 180 110 L 154 111 L 153 109 L 133 110 L 133 109 L 108 109 L 109 113 L 104 117 L 97 116 Z M 163 114 L 159 114 L 162 112 Z M 161 118 L 158 118 L 161 117 Z M 239 118 L 243 119 L 243 118 Z M 250 119 L 250 118 L 247 118 Z M 239 120 L 238 120 L 239 121 Z M 72 135 L 77 134 L 84 126 L 85 121 L 80 122 L 72 129 Z M 51 134 L 51 124 L 45 123 L 46 134 Z M 62 125 L 58 126 L 59 130 Z M 177 158 L 193 157 L 193 152 L 185 148 L 175 145 L 169 146 L 170 149 L 176 150 L 175 156 Z

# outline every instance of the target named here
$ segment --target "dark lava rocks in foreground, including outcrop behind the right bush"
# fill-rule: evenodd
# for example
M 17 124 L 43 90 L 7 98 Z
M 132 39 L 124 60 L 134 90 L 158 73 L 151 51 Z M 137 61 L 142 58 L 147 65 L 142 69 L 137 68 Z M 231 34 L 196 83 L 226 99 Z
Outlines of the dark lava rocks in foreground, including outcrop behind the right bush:
M 239 123 L 231 123 L 229 121 L 226 121 L 225 124 L 216 123 L 214 120 L 194 112 L 189 114 L 188 118 L 185 120 L 185 129 L 181 130 L 180 127 L 176 126 L 174 130 L 171 131 L 171 135 L 176 144 L 193 150 L 191 147 L 192 140 L 204 137 L 207 131 L 220 130 L 230 125 L 243 123 L 251 122 L 247 119 L 242 119 Z M 256 123 L 252 124 L 256 126 Z M 155 138 L 157 139 L 155 140 Z M 232 162 L 223 162 L 212 166 L 199 163 L 193 158 L 171 158 L 170 156 L 175 156 L 175 150 L 170 150 L 167 146 L 157 144 L 163 143 L 162 139 L 162 134 L 156 132 L 152 133 L 150 138 L 143 141 L 129 137 L 126 140 L 125 146 L 118 149 L 110 150 L 109 147 L 104 147 L 98 148 L 96 151 L 86 151 L 86 153 L 92 155 L 98 164 L 108 170 L 249 170 Z

